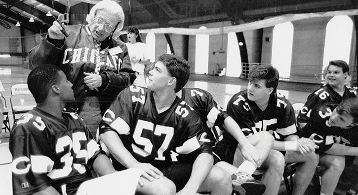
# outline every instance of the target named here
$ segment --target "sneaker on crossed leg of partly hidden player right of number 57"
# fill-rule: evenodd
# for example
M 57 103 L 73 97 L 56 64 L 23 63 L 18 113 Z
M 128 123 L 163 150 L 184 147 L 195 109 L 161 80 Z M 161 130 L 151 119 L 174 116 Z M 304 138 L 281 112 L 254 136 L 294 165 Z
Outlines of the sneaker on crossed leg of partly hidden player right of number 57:
M 233 195 L 262 195 L 266 190 L 264 184 L 245 172 L 234 173 L 231 179 L 233 179 Z

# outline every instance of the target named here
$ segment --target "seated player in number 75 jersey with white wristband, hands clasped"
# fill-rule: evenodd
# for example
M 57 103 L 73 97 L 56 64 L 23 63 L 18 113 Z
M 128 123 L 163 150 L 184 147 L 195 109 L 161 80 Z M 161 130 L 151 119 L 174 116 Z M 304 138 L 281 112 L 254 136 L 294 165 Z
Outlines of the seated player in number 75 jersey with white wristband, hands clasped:
M 278 193 L 284 162 L 302 162 L 294 177 L 292 194 L 303 195 L 315 174 L 318 155 L 314 151 L 318 146 L 308 138 L 295 135 L 295 114 L 291 103 L 276 92 L 278 70 L 271 65 L 256 65 L 251 68 L 248 76 L 247 90 L 235 94 L 229 100 L 227 113 L 238 123 L 246 136 L 269 131 L 275 138 L 272 149 L 284 154 L 284 161 L 282 154 L 277 152 L 274 154 L 275 158 L 268 158 L 269 161 L 263 164 L 264 167 L 274 166 L 275 163 L 282 166 L 280 170 L 268 174 L 267 181 L 271 184 L 265 185 L 272 186 L 271 194 Z M 237 139 L 224 131 L 223 139 L 217 144 L 214 153 L 222 160 L 233 163 L 237 145 Z M 278 162 L 275 162 L 275 159 Z

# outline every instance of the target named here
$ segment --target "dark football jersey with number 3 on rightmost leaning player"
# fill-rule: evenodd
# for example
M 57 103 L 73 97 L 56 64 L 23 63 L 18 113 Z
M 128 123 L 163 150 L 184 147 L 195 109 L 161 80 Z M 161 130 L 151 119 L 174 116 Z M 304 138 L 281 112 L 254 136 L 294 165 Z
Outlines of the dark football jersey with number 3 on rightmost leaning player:
M 312 109 L 310 121 L 302 128 L 304 137 L 312 136 L 319 146 L 316 153 L 324 153 L 329 150 L 334 143 L 347 146 L 358 146 L 358 128 L 357 126 L 342 129 L 332 127 L 328 124 L 332 111 L 338 106 L 337 103 L 325 103 Z

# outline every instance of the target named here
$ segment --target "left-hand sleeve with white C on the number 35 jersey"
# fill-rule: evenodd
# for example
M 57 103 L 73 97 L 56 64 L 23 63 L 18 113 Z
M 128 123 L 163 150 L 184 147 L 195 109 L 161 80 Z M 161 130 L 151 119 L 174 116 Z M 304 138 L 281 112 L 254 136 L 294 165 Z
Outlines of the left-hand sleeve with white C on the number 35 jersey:
M 34 125 L 37 124 L 34 120 L 21 124 L 26 117 L 31 115 L 24 114 L 14 125 L 9 140 L 14 195 L 33 194 L 49 187 L 46 173 L 54 164 L 49 158 L 51 147 L 44 131 Z

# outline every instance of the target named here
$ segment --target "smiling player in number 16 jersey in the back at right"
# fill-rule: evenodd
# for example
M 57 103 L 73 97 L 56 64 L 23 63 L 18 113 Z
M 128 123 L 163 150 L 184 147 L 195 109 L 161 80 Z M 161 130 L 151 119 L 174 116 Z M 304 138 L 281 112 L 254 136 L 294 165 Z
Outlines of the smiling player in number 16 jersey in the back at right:
M 326 75 L 328 83 L 307 97 L 305 105 L 297 116 L 297 123 L 301 128 L 310 120 L 311 110 L 316 105 L 327 102 L 340 103 L 343 99 L 357 97 L 357 91 L 345 85 L 348 76 L 349 66 L 345 61 L 329 62 Z

